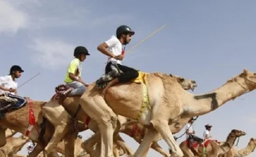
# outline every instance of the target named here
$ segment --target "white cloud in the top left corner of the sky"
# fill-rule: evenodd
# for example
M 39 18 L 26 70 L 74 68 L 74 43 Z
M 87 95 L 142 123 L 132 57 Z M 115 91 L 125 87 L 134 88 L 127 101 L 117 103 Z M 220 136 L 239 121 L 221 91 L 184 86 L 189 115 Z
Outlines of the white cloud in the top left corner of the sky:
M 0 33 L 16 33 L 27 25 L 27 15 L 18 10 L 12 3 L 0 0 Z

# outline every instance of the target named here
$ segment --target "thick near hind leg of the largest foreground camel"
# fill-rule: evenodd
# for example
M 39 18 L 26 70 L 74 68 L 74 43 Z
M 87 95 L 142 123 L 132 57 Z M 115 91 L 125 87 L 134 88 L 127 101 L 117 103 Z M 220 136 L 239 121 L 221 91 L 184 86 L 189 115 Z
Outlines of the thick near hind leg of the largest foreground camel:
M 83 111 L 98 123 L 101 134 L 101 157 L 113 156 L 113 132 L 117 127 L 117 115 L 106 104 L 98 89 L 88 89 L 81 96 Z

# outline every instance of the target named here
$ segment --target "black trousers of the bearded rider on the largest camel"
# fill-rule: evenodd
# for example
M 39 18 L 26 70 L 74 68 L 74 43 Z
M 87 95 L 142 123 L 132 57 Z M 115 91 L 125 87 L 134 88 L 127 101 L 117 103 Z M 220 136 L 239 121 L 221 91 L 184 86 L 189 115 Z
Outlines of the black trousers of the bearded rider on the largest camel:
M 109 63 L 106 64 L 105 74 L 111 72 L 111 64 L 111 61 L 109 61 Z M 128 81 L 131 81 L 132 79 L 137 78 L 139 76 L 139 72 L 134 68 L 123 66 L 119 63 L 117 63 L 117 67 L 119 68 L 119 70 L 122 70 L 122 72 L 124 72 L 124 74 L 121 74 L 117 77 L 120 83 L 127 83 Z

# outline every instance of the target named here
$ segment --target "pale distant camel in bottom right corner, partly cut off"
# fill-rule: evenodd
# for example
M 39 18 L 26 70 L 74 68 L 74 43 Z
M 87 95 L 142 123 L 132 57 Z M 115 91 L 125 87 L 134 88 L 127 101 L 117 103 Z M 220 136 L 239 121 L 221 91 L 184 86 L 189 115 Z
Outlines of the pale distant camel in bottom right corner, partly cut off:
M 242 157 L 248 156 L 254 152 L 256 147 L 256 139 L 251 138 L 248 145 L 244 149 L 238 150 L 236 147 L 232 147 L 227 154 L 220 155 L 218 157 Z

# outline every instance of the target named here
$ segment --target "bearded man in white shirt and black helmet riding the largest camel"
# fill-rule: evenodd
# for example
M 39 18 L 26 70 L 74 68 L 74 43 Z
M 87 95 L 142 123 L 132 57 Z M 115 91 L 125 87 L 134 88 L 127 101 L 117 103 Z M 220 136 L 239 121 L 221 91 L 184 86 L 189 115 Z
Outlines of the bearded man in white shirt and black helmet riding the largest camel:
M 109 56 L 109 59 L 106 64 L 105 68 L 105 74 L 108 74 L 111 72 L 111 65 L 117 66 L 119 70 L 121 70 L 122 73 L 120 76 L 117 76 L 117 78 L 114 78 L 112 81 L 110 81 L 106 87 L 102 91 L 102 96 L 106 94 L 107 89 L 109 87 L 117 84 L 117 83 L 126 83 L 128 81 L 131 81 L 134 78 L 137 78 L 139 76 L 139 72 L 137 70 L 134 70 L 133 68 L 130 68 L 128 66 L 123 66 L 121 61 L 124 59 L 124 50 L 126 44 L 129 44 L 132 35 L 134 35 L 134 31 L 130 29 L 130 27 L 126 25 L 121 25 L 117 27 L 116 30 L 116 36 L 112 35 L 109 40 L 106 40 L 106 42 L 103 42 L 98 46 L 98 51 L 103 53 L 106 56 Z

